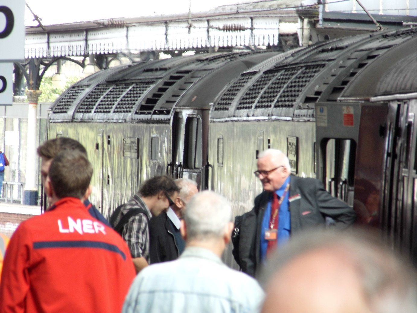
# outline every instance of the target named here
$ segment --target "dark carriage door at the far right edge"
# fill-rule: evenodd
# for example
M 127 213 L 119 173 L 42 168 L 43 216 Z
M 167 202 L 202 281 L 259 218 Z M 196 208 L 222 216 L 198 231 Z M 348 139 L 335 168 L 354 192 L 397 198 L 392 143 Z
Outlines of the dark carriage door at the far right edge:
M 417 126 L 416 101 L 391 101 L 382 129 L 383 154 L 382 211 L 378 220 L 387 241 L 417 264 Z

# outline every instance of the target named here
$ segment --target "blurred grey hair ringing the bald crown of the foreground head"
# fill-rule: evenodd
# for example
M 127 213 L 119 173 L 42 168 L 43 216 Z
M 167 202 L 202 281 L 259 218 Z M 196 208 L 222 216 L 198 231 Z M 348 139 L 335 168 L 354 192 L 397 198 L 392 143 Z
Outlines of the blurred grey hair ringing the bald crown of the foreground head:
M 380 237 L 362 229 L 303 232 L 272 255 L 261 272 L 260 283 L 265 287 L 271 277 L 302 255 L 327 251 L 341 256 L 357 273 L 370 312 L 412 312 L 416 301 L 413 281 L 416 273 L 411 265 L 382 245 Z

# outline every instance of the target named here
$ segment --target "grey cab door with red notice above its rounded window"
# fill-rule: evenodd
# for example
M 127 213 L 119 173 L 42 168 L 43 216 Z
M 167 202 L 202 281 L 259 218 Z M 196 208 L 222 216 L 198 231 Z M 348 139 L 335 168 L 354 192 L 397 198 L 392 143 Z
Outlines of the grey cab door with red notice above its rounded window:
M 317 178 L 327 191 L 353 206 L 354 168 L 359 130 L 357 103 L 316 106 Z

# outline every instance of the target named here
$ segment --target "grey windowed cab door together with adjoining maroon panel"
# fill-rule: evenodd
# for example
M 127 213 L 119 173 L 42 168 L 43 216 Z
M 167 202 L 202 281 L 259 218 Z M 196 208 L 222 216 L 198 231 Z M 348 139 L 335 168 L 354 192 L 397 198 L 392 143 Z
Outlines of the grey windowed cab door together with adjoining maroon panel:
M 359 224 L 377 226 L 388 108 L 361 103 L 316 106 L 317 176 L 354 207 Z

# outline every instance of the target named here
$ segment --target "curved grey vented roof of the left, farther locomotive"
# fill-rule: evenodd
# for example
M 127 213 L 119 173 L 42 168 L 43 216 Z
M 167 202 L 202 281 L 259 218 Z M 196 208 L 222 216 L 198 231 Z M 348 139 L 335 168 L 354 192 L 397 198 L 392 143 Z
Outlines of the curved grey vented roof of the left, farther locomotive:
M 208 109 L 231 79 L 276 54 L 200 54 L 102 70 L 66 90 L 50 120 L 169 120 L 174 106 Z

